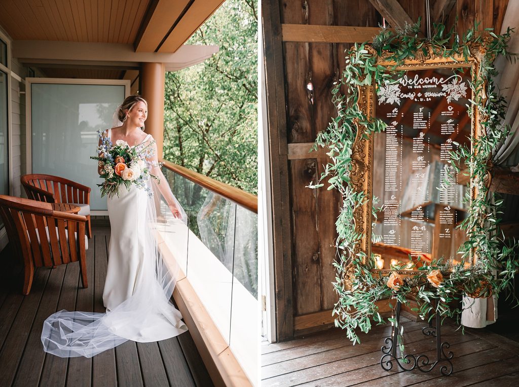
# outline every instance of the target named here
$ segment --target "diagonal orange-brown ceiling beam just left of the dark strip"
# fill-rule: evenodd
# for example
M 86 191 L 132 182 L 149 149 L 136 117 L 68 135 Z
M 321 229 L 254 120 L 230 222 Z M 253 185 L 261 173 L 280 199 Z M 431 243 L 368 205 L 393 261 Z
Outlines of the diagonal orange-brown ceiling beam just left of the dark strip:
M 135 37 L 135 52 L 155 52 L 191 3 L 191 0 L 152 1 Z

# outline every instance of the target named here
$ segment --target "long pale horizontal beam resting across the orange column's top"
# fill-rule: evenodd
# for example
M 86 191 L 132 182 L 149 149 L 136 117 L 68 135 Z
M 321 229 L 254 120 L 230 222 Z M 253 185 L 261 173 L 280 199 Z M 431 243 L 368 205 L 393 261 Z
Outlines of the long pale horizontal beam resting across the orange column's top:
M 14 41 L 12 56 L 22 63 L 119 69 L 135 69 L 140 68 L 143 62 L 156 62 L 165 63 L 167 71 L 176 71 L 210 58 L 218 49 L 218 46 L 183 45 L 171 54 L 134 52 L 131 44 Z

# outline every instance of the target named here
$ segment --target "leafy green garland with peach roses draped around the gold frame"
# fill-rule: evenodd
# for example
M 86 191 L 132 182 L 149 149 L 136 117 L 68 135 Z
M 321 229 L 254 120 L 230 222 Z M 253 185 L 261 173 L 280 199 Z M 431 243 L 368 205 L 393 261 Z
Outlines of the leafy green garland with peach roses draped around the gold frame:
M 509 127 L 502 125 L 506 102 L 499 96 L 492 81 L 497 74 L 493 66 L 496 56 L 504 55 L 508 59 L 516 57 L 507 51 L 507 42 L 513 30 L 508 29 L 506 33 L 497 35 L 491 29 L 479 30 L 475 23 L 460 39 L 456 37 L 454 29 L 446 33 L 442 24 L 434 25 L 434 33 L 430 39 L 419 37 L 419 31 L 420 21 L 412 26 L 407 25 L 403 30 L 383 29 L 374 37 L 371 47 L 367 43 L 352 47 L 347 53 L 343 77 L 340 82 L 335 83 L 333 89 L 337 117 L 332 119 L 326 130 L 318 134 L 313 147 L 315 150 L 318 147 L 326 148 L 331 162 L 325 165 L 319 181 L 310 183 L 309 188 L 319 188 L 327 179 L 330 184 L 328 189 L 337 189 L 343 198 L 342 209 L 336 221 L 336 248 L 340 252 L 340 259 L 339 262 L 334 262 L 337 277 L 333 285 L 339 300 L 333 313 L 337 316 L 335 325 L 345 329 L 353 343 L 360 343 L 357 328 L 368 332 L 372 321 L 377 325 L 385 323 L 376 301 L 396 299 L 405 304 L 412 297 L 418 302 L 417 312 L 422 319 L 432 318 L 439 311 L 443 318 L 454 318 L 461 325 L 462 309 L 453 308 L 449 303 L 459 301 L 463 293 L 477 298 L 497 295 L 505 289 L 511 290 L 514 274 L 519 269 L 519 261 L 514 260 L 517 247 L 515 240 L 507 246 L 504 237 L 499 237 L 502 201 L 495 199 L 494 193 L 489 192 L 484 184 L 492 152 L 510 132 Z M 452 46 L 447 47 L 447 44 Z M 460 161 L 465 161 L 470 167 L 477 192 L 472 201 L 470 193 L 465 198 L 470 206 L 469 217 L 460 226 L 466 230 L 468 240 L 460 248 L 463 259 L 459 264 L 454 264 L 452 260 L 441 262 L 436 259 L 425 262 L 416 275 L 401 277 L 398 270 L 403 269 L 402 266 L 395 267 L 391 276 L 383 277 L 371 272 L 374 268 L 373 258 L 366 259 L 365 253 L 359 252 L 362 235 L 355 230 L 353 213 L 365 203 L 366 196 L 365 192 L 353 190 L 349 174 L 352 168 L 352 146 L 357 132 L 361 131 L 364 136 L 374 134 L 383 131 L 386 124 L 380 119 L 368 119 L 361 111 L 357 104 L 358 87 L 373 83 L 378 87 L 383 86 L 395 74 L 395 71 L 388 71 L 387 67 L 377 65 L 377 56 L 394 61 L 396 68 L 407 59 L 429 57 L 429 49 L 434 55 L 444 58 L 462 55 L 468 61 L 469 56 L 477 57 L 481 64 L 479 80 L 471 83 L 471 88 L 474 96 L 484 91 L 486 99 L 474 98 L 472 103 L 478 107 L 483 117 L 482 125 L 486 135 L 479 139 L 472 138 L 471 149 L 455 143 L 457 149 L 451 153 L 454 170 L 460 172 Z M 348 90 L 346 96 L 340 92 L 343 85 Z M 484 85 L 486 90 L 482 90 Z M 464 263 L 469 260 L 470 251 L 476 246 L 477 263 L 466 268 Z M 496 272 L 497 275 L 494 275 Z M 345 282 L 349 282 L 348 285 Z M 395 302 L 390 301 L 390 306 L 394 309 Z M 467 307 L 470 305 L 466 305 Z M 392 318 L 389 321 L 394 323 Z M 399 327 L 399 333 L 403 351 L 403 327 Z

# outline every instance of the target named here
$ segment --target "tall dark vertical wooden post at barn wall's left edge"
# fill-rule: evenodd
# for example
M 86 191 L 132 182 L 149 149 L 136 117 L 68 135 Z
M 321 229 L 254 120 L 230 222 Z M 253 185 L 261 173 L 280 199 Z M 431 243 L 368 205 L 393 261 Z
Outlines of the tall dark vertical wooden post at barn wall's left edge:
M 268 111 L 268 141 L 274 237 L 274 281 L 276 294 L 276 339 L 294 337 L 292 271 L 292 224 L 290 212 L 289 162 L 286 153 L 286 101 L 281 41 L 281 11 L 277 0 L 261 3 L 265 52 Z

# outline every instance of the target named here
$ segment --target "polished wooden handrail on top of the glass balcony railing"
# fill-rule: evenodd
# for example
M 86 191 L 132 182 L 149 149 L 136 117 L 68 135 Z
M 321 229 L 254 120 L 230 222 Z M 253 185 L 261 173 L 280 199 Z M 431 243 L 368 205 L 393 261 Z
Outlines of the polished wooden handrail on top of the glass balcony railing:
M 175 174 L 178 174 L 187 180 L 214 192 L 215 194 L 223 196 L 231 202 L 245 207 L 254 213 L 258 213 L 258 197 L 256 195 L 240 190 L 239 188 L 233 187 L 229 184 L 222 183 L 218 180 L 214 180 L 167 160 L 162 159 L 160 162 L 170 171 L 175 172 Z

